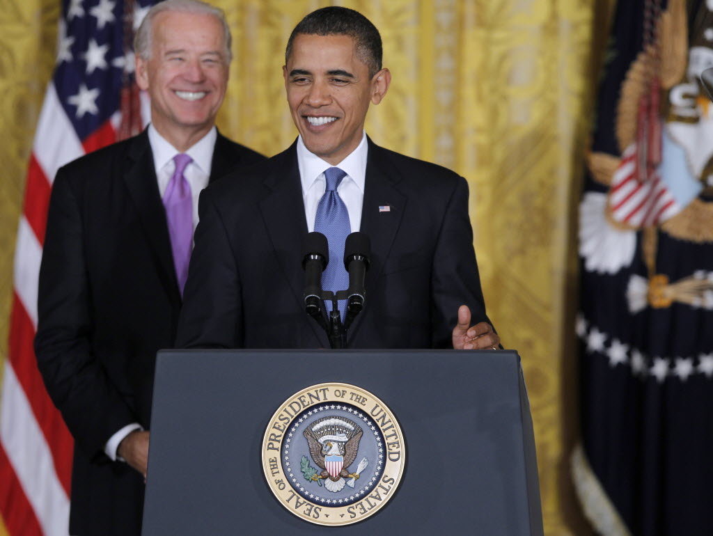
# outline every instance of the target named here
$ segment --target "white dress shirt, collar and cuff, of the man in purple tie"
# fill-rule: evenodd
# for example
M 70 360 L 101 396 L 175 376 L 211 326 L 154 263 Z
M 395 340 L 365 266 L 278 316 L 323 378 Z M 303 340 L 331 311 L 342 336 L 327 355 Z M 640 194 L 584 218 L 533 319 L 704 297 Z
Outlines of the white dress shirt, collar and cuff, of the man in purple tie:
M 198 225 L 198 195 L 200 190 L 208 185 L 210 177 L 210 166 L 213 160 L 213 150 L 215 149 L 215 140 L 217 139 L 217 129 L 211 128 L 210 131 L 198 140 L 198 143 L 192 145 L 185 153 L 193 160 L 186 166 L 183 176 L 188 180 L 190 185 L 190 193 L 193 198 L 193 230 Z M 168 187 L 168 182 L 175 170 L 175 162 L 173 157 L 178 155 L 180 151 L 171 145 L 168 140 L 163 138 L 158 133 L 158 130 L 153 125 L 148 125 L 148 143 L 151 145 L 153 153 L 153 165 L 156 170 L 156 179 L 158 180 L 158 193 L 163 199 L 163 194 Z M 324 180 L 324 179 L 322 179 Z M 112 460 L 120 460 L 116 454 L 119 448 L 119 443 L 135 430 L 143 430 L 139 423 L 131 423 L 118 432 L 116 432 L 104 445 L 104 452 Z

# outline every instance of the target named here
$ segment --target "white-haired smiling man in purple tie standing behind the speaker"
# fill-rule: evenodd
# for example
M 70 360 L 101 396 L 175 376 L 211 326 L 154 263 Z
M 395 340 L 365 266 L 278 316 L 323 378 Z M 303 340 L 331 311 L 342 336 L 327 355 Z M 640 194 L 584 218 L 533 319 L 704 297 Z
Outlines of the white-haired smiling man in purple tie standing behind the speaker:
M 230 63 L 222 11 L 157 4 L 135 51 L 151 124 L 58 171 L 40 271 L 37 360 L 75 439 L 72 535 L 140 534 L 155 354 L 175 339 L 195 199 L 263 160 L 215 128 Z

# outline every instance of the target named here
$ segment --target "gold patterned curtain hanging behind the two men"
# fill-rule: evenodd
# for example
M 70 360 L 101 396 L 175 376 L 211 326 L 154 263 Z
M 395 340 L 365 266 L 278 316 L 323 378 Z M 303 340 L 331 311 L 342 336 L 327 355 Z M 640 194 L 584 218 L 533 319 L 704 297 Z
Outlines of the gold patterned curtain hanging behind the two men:
M 51 75 L 59 0 L 0 9 L 0 363 L 27 158 Z M 235 61 L 218 125 L 272 155 L 296 136 L 284 44 L 307 12 L 349 6 L 376 24 L 393 83 L 367 120 L 387 148 L 468 179 L 488 312 L 523 359 L 545 533 L 586 534 L 568 453 L 576 430 L 575 207 L 597 53 L 613 2 L 596 0 L 216 0 Z M 476 498 L 477 500 L 477 498 Z M 0 535 L 4 528 L 0 520 Z

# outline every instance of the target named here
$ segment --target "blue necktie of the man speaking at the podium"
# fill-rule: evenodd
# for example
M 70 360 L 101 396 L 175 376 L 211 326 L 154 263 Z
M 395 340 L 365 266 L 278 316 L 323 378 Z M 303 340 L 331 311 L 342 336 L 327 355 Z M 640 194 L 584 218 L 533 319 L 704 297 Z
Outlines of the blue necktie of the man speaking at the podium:
M 349 274 L 344 269 L 344 240 L 352 231 L 349 224 L 349 212 L 347 205 L 339 197 L 337 187 L 347 173 L 339 168 L 329 168 L 324 171 L 327 179 L 327 189 L 322 195 L 317 205 L 317 217 L 314 220 L 314 230 L 321 232 L 327 237 L 329 242 L 329 264 L 322 272 L 322 290 L 337 292 L 346 290 L 349 287 Z M 327 311 L 332 311 L 332 302 L 327 301 Z M 342 320 L 346 314 L 347 300 L 339 300 L 339 311 L 342 312 Z

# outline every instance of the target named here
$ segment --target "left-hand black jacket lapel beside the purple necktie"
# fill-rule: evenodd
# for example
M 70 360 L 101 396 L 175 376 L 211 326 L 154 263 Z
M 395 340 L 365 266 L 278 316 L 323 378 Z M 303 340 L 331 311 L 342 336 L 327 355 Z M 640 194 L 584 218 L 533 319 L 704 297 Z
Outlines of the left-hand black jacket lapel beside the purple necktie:
M 138 211 L 161 284 L 172 303 L 178 307 L 181 299 L 173 267 L 168 224 L 158 193 L 153 153 L 145 130 L 133 140 L 128 150 L 127 168 L 123 178 Z

